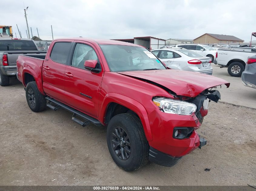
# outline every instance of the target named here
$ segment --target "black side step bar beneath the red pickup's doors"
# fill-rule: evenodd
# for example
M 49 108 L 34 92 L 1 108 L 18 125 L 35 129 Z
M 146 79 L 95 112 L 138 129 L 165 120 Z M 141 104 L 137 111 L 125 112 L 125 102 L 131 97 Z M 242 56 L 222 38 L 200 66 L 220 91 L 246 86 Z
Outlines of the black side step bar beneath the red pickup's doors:
M 72 107 L 69 107 L 69 106 L 67 106 L 67 105 L 65 105 L 64 103 L 61 103 L 61 102 L 59 102 L 59 101 L 57 101 L 57 100 L 55 100 L 55 99 L 53 99 L 53 98 L 51 98 L 51 97 L 46 97 L 45 98 L 46 100 L 48 100 L 47 101 L 47 104 L 46 104 L 46 106 L 47 107 L 49 107 L 49 108 L 51 108 L 52 110 L 57 110 L 58 108 L 60 108 L 60 107 L 62 107 L 62 108 L 64 108 L 65 110 L 68 110 L 68 111 L 70 111 L 71 113 L 73 113 L 73 116 L 72 116 L 72 120 L 73 121 L 75 121 L 76 123 L 78 123 L 78 124 L 80 124 L 81 126 L 87 126 L 89 123 L 93 123 L 94 125 L 96 125 L 96 126 L 101 126 L 101 123 L 97 120 L 97 119 L 94 119 L 94 118 L 92 118 L 91 116 L 88 116 L 88 115 L 86 115 L 86 114 L 84 114 L 84 113 L 81 113 L 80 111 L 78 111 L 78 110 L 75 110 L 75 109 L 73 109 Z M 57 106 L 53 106 L 53 105 L 51 105 L 50 103 L 55 103 Z M 81 117 L 81 118 L 83 118 L 83 119 L 85 119 L 85 122 L 82 122 L 82 121 L 80 121 L 79 119 L 77 119 L 77 118 L 75 118 L 75 116 L 79 116 L 79 117 Z

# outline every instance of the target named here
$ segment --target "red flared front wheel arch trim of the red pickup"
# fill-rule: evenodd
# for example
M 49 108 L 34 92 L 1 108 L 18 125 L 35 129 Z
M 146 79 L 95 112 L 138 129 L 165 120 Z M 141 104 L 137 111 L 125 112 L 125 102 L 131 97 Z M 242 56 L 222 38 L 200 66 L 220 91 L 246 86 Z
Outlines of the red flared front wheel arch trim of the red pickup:
M 152 134 L 151 134 L 151 129 L 150 129 L 150 124 L 149 124 L 149 119 L 148 119 L 148 113 L 145 109 L 145 107 L 139 103 L 138 101 L 131 99 L 130 97 L 117 94 L 117 93 L 108 93 L 104 97 L 101 105 L 99 105 L 99 120 L 102 124 L 105 125 L 104 123 L 104 117 L 107 112 L 107 107 L 108 104 L 114 102 L 118 103 L 122 106 L 125 106 L 129 108 L 130 110 L 134 111 L 140 118 L 146 138 L 148 141 L 152 141 Z

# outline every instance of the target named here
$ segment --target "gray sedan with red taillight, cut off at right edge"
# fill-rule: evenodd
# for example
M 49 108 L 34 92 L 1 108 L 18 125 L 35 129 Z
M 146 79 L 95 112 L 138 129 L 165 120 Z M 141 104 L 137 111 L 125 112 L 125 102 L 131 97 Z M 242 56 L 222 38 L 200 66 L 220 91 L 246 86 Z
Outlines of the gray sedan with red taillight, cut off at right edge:
M 256 89 L 256 56 L 248 57 L 242 73 L 242 82 L 245 86 Z

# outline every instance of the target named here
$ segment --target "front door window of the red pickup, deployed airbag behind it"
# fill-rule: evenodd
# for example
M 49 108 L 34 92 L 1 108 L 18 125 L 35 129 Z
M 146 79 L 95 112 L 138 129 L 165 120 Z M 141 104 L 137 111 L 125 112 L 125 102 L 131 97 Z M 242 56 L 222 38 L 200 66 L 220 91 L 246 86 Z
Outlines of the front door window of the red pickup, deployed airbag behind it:
M 77 43 L 72 57 L 72 66 L 85 69 L 86 60 L 98 60 L 97 54 L 91 46 Z

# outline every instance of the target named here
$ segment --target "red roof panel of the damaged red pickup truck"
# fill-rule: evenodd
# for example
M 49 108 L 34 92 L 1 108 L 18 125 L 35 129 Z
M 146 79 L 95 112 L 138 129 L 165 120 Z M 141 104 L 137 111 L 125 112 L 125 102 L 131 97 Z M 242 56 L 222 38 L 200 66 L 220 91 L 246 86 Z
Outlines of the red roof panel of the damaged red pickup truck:
M 122 42 L 118 40 L 107 40 L 107 39 L 93 39 L 93 38 L 83 38 L 83 37 L 69 37 L 69 38 L 58 38 L 55 40 L 83 40 L 89 43 L 97 43 L 97 44 L 115 44 L 115 45 L 126 45 L 126 46 L 138 46 L 137 44 Z

